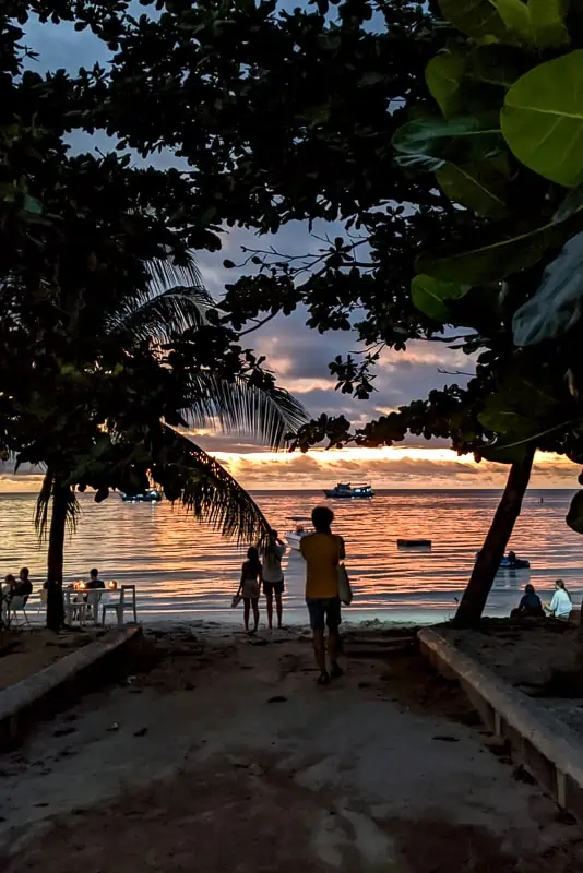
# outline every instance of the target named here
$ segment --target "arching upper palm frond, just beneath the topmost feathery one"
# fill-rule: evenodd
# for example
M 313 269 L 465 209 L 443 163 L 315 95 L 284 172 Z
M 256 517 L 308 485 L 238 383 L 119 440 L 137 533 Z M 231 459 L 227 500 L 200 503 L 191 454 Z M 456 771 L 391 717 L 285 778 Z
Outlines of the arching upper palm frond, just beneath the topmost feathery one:
M 199 327 L 214 307 L 212 297 L 200 287 L 176 286 L 155 294 L 144 292 L 123 301 L 107 324 L 109 336 L 120 342 L 152 339 L 168 343 L 174 333 Z

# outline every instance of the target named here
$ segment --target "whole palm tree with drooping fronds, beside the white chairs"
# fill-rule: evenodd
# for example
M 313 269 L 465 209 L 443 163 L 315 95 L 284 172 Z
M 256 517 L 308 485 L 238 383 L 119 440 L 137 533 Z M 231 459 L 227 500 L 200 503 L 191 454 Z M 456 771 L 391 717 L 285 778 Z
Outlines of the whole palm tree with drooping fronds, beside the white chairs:
M 259 506 L 179 426 L 245 431 L 278 449 L 286 434 L 306 420 L 302 407 L 272 379 L 261 378 L 265 374 L 257 367 L 225 375 L 197 364 L 180 369 L 179 400 L 170 404 L 168 420 L 160 398 L 167 385 L 174 385 L 174 349 L 187 336 L 195 343 L 216 307 L 193 263 L 176 266 L 156 261 L 150 274 L 145 290 L 81 304 L 75 299 L 64 319 L 75 360 L 61 368 L 61 376 L 68 385 L 72 382 L 72 388 L 63 392 L 59 409 L 64 427 L 52 428 L 55 441 L 44 458 L 35 518 L 39 535 L 48 533 L 47 624 L 55 629 L 62 620 L 66 531 L 68 526 L 75 529 L 80 512 L 75 487 L 84 490 L 93 485 L 100 501 L 119 482 L 134 492 L 160 485 L 167 498 L 180 501 L 224 536 L 258 541 L 269 531 Z M 111 403 L 111 384 L 120 374 L 124 399 Z M 162 390 L 153 404 L 146 403 L 143 396 L 157 380 Z M 81 391 L 75 393 L 78 383 Z

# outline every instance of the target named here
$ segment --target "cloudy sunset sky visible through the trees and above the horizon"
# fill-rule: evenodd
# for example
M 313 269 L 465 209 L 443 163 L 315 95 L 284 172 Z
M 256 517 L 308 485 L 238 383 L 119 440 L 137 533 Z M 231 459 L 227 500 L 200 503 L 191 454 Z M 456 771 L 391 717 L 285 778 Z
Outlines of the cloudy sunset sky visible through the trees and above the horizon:
M 141 8 L 143 12 L 143 8 Z M 76 33 L 68 24 L 40 25 L 31 22 L 26 41 L 39 52 L 36 69 L 45 71 L 66 67 L 76 72 L 80 65 L 99 60 L 106 62 L 107 49 L 91 32 Z M 81 144 L 76 143 L 76 147 Z M 103 141 L 99 143 L 103 148 Z M 83 148 L 92 143 L 85 137 Z M 162 164 L 168 164 L 163 156 Z M 328 228 L 329 229 L 329 228 Z M 321 236 L 326 228 L 316 226 Z M 332 229 L 332 234 L 333 234 Z M 221 298 L 235 271 L 225 270 L 224 259 L 243 260 L 241 246 L 265 248 L 269 238 L 233 229 L 223 235 L 223 250 L 199 253 L 199 266 L 207 289 Z M 320 243 L 307 226 L 294 223 L 278 236 L 279 251 L 297 254 L 317 249 Z M 432 387 L 464 381 L 463 376 L 443 374 L 440 370 L 472 372 L 472 360 L 443 344 L 412 343 L 405 352 L 385 351 L 377 369 L 377 391 L 369 400 L 356 400 L 335 390 L 328 364 L 336 355 L 357 348 L 349 332 L 320 335 L 306 326 L 301 310 L 278 316 L 262 331 L 252 334 L 253 348 L 265 355 L 266 366 L 278 383 L 302 403 L 309 416 L 321 412 L 343 414 L 355 424 L 376 418 L 413 399 L 423 398 Z M 390 450 L 345 449 L 340 452 L 314 450 L 308 455 L 271 453 L 246 434 L 199 432 L 193 439 L 237 476 L 241 485 L 254 489 L 323 488 L 336 481 L 371 481 L 377 488 L 499 488 L 508 468 L 475 464 L 471 456 L 459 458 L 447 443 L 409 439 L 406 445 Z M 576 488 L 578 468 L 563 458 L 545 455 L 537 458 L 533 486 L 537 488 Z M 19 475 L 7 465 L 0 468 L 0 491 L 36 490 L 38 473 L 23 470 Z

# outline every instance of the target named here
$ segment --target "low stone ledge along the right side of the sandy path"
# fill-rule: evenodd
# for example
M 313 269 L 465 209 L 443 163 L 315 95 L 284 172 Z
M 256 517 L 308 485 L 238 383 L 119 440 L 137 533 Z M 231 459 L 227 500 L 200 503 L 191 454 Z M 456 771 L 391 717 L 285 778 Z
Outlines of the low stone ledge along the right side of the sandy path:
M 459 680 L 486 727 L 508 739 L 513 755 L 563 809 L 583 821 L 583 748 L 578 733 L 437 631 L 426 627 L 417 636 L 436 669 Z

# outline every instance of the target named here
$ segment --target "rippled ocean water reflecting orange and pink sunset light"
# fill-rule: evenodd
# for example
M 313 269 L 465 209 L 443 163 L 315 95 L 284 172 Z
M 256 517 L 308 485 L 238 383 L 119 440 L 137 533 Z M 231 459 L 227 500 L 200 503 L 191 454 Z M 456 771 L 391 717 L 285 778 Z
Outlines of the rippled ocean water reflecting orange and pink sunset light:
M 243 560 L 180 509 L 122 503 L 110 497 L 96 504 L 80 495 L 82 515 L 67 542 L 66 578 L 87 577 L 97 566 L 105 579 L 136 585 L 140 618 L 147 620 L 240 620 L 229 608 Z M 324 503 L 320 491 L 263 491 L 253 494 L 281 535 L 288 516 L 308 516 Z M 345 619 L 430 622 L 453 615 L 475 553 L 480 548 L 499 491 L 381 491 L 368 501 L 329 501 L 336 533 L 346 540 L 346 565 L 355 601 Z M 530 491 L 511 548 L 531 561 L 530 571 L 500 571 L 486 613 L 508 614 L 520 590 L 532 582 L 550 598 L 556 578 L 573 595 L 583 594 L 583 538 L 564 516 L 569 491 Z M 35 585 L 45 577 L 45 550 L 33 526 L 34 494 L 0 495 L 0 573 L 26 564 Z M 398 538 L 432 540 L 431 550 L 400 550 Z M 285 620 L 305 622 L 304 561 L 288 550 Z

